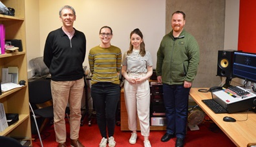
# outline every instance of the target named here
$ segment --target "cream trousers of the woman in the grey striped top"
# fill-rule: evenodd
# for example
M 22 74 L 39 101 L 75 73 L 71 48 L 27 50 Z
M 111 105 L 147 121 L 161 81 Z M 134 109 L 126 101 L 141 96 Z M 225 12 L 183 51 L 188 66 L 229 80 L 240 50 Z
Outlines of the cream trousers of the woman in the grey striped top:
M 145 73 L 129 73 L 129 77 L 142 77 Z M 137 130 L 137 114 L 140 120 L 140 130 L 143 136 L 149 136 L 149 81 L 144 83 L 129 83 L 125 80 L 123 86 L 125 106 L 128 114 L 129 130 Z

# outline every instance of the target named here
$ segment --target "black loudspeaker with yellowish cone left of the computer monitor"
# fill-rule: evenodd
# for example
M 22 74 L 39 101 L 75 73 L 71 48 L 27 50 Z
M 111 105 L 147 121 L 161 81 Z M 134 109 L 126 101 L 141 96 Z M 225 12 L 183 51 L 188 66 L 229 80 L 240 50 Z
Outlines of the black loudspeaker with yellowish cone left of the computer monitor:
M 219 50 L 218 51 L 218 67 L 217 75 L 232 79 L 233 70 L 233 50 Z

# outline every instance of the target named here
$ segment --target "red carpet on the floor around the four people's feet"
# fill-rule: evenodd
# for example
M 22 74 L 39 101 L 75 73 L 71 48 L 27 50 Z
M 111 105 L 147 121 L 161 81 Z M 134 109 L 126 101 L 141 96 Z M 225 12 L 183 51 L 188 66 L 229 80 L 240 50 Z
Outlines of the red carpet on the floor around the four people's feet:
M 69 139 L 69 123 L 66 123 L 67 126 L 67 146 L 70 146 Z M 235 146 L 233 142 L 213 123 L 204 122 L 199 125 L 200 130 L 190 131 L 187 130 L 186 136 L 186 144 L 185 146 Z M 171 139 L 168 142 L 161 142 L 160 139 L 162 135 L 164 135 L 165 131 L 151 131 L 149 136 L 149 141 L 151 142 L 151 146 L 158 147 L 169 147 L 175 146 L 176 138 Z M 120 130 L 120 126 L 116 126 L 116 130 L 114 133 L 114 139 L 116 141 L 116 147 L 118 146 L 133 146 L 139 147 L 144 146 L 143 136 L 138 132 L 138 139 L 136 144 L 129 144 L 129 137 L 131 136 L 131 132 L 122 132 Z M 33 135 L 36 137 L 36 135 Z M 43 139 L 43 145 L 45 147 L 54 147 L 58 146 L 58 143 L 55 140 L 54 127 L 46 126 L 45 130 L 41 132 L 41 137 Z M 84 146 L 99 146 L 101 141 L 100 131 L 96 122 L 93 122 L 91 126 L 88 126 L 87 119 L 85 118 L 83 126 L 80 128 L 80 141 Z M 33 141 L 33 146 L 41 146 L 39 139 Z

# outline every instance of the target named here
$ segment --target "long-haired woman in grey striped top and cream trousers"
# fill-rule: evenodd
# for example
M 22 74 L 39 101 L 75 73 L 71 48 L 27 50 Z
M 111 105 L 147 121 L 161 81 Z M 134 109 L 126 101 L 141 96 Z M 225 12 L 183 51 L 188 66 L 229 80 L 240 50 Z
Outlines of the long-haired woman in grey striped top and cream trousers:
M 149 142 L 149 77 L 153 73 L 151 54 L 145 51 L 142 32 L 136 28 L 130 34 L 130 48 L 123 55 L 122 75 L 125 77 L 123 86 L 125 105 L 128 113 L 128 126 L 131 133 L 130 144 L 137 139 L 137 113 L 140 120 L 140 130 L 144 136 L 144 146 Z

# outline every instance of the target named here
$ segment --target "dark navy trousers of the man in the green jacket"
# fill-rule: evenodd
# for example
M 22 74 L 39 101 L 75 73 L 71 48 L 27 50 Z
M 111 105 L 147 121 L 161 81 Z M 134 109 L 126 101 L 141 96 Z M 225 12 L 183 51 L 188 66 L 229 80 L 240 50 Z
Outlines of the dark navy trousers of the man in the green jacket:
M 183 84 L 163 84 L 166 130 L 177 138 L 184 139 L 186 135 L 189 91 Z

